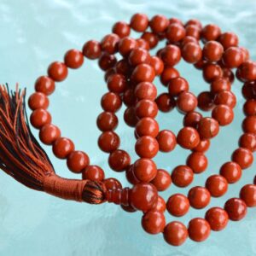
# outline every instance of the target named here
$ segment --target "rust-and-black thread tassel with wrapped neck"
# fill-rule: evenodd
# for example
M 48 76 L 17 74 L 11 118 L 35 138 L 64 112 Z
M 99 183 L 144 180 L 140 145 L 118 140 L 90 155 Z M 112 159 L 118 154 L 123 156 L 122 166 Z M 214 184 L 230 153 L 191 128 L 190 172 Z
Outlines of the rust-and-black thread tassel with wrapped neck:
M 32 135 L 26 115 L 26 90 L 0 85 L 0 169 L 30 189 L 65 200 L 100 204 L 104 183 L 67 179 L 55 174 L 49 157 Z

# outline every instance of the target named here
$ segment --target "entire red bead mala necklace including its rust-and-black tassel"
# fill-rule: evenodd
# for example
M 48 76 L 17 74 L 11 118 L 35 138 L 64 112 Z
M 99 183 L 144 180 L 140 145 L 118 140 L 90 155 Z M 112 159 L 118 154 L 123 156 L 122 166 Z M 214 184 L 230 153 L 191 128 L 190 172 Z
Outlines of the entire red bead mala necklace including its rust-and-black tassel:
M 131 29 L 143 32 L 141 38 L 129 37 Z M 55 174 L 47 154 L 29 129 L 25 91 L 9 92 L 5 86 L 0 87 L 0 167 L 27 187 L 66 200 L 90 204 L 108 201 L 121 205 L 127 212 L 142 211 L 143 229 L 150 234 L 162 232 L 166 242 L 173 246 L 183 244 L 188 236 L 194 241 L 205 241 L 211 230 L 223 230 L 229 219 L 238 221 L 245 217 L 247 207 L 256 206 L 256 177 L 254 184 L 241 188 L 240 198 L 231 198 L 223 208 L 210 208 L 205 218 L 191 219 L 188 227 L 179 221 L 166 224 L 164 212 L 167 209 L 173 216 L 181 217 L 189 207 L 207 207 L 211 197 L 224 195 L 229 184 L 241 178 L 242 170 L 252 165 L 256 149 L 256 63 L 249 60 L 247 49 L 238 46 L 236 34 L 221 32 L 212 24 L 202 27 L 199 20 L 189 20 L 183 25 L 181 20 L 163 15 L 148 20 L 146 15 L 136 14 L 130 24 L 114 24 L 112 32 L 101 43 L 90 40 L 82 51 L 67 51 L 64 62 L 50 64 L 48 76 L 37 79 L 36 92 L 28 101 L 32 109 L 30 121 L 39 130 L 41 142 L 51 145 L 55 156 L 67 160 L 68 169 L 82 173 L 83 179 L 65 179 Z M 149 50 L 164 39 L 166 47 L 159 49 L 155 56 L 150 55 Z M 204 44 L 202 49 L 200 39 Z M 119 61 L 116 53 L 122 56 Z M 81 67 L 84 57 L 98 60 L 109 90 L 102 96 L 103 112 L 96 120 L 102 131 L 98 146 L 109 154 L 108 164 L 114 172 L 125 172 L 133 185 L 131 189 L 123 189 L 113 177 L 105 178 L 100 166 L 90 165 L 86 153 L 75 150 L 70 139 L 61 137 L 60 129 L 51 124 L 46 110 L 55 82 L 67 78 L 68 68 Z M 197 97 L 189 91 L 188 81 L 175 68 L 182 57 L 202 70 L 203 78 L 210 84 L 209 91 Z M 159 191 L 168 189 L 171 183 L 187 187 L 195 173 L 206 171 L 205 152 L 210 140 L 218 135 L 219 126 L 232 122 L 236 106 L 236 96 L 231 92 L 235 79 L 233 68 L 237 68 L 236 78 L 244 83 L 241 92 L 246 99 L 239 148 L 233 152 L 231 161 L 221 166 L 218 175 L 207 178 L 205 187 L 195 186 L 189 189 L 188 195 L 174 194 L 165 201 L 158 195 Z M 153 84 L 157 76 L 167 89 L 159 96 Z M 114 132 L 119 122 L 115 113 L 122 103 L 126 106 L 125 123 L 135 127 L 137 138 L 135 151 L 139 159 L 133 164 L 130 155 L 119 148 L 120 138 Z M 212 111 L 211 117 L 195 112 L 196 107 Z M 159 110 L 169 112 L 173 108 L 184 114 L 183 128 L 177 137 L 170 130 L 160 131 L 155 120 Z M 176 166 L 170 175 L 152 159 L 159 151 L 171 152 L 177 144 L 191 150 L 191 154 L 186 164 Z

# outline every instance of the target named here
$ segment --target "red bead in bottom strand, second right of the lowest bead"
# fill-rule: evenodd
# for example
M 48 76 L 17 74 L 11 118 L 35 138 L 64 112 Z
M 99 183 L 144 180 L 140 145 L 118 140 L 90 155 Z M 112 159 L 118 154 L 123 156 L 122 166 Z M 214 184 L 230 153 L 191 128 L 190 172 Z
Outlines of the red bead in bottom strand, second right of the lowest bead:
M 220 207 L 212 207 L 206 213 L 206 220 L 213 231 L 224 230 L 229 222 L 228 213 Z

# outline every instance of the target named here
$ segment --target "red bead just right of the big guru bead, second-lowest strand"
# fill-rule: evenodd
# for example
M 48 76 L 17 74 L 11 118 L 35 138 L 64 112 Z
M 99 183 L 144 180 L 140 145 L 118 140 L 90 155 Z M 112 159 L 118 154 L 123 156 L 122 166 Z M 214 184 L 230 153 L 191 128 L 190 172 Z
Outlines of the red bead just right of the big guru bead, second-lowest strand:
M 189 211 L 189 200 L 185 195 L 171 195 L 166 202 L 167 211 L 176 217 L 181 217 Z

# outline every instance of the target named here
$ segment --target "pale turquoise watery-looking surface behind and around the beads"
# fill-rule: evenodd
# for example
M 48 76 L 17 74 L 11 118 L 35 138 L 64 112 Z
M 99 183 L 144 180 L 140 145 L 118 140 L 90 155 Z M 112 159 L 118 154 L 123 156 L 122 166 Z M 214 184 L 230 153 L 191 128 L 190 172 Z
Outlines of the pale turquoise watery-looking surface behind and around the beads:
M 38 76 L 46 73 L 50 62 L 61 61 L 67 49 L 81 49 L 89 39 L 101 40 L 111 32 L 117 20 L 129 21 L 135 12 L 148 16 L 155 14 L 177 17 L 183 21 L 198 18 L 203 24 L 217 23 L 223 31 L 236 32 L 242 46 L 247 47 L 252 59 L 256 57 L 256 2 L 221 0 L 175 1 L 100 1 L 100 0 L 1 0 L 0 1 L 0 52 L 1 83 L 8 82 L 14 88 L 18 82 L 28 94 Z M 136 36 L 136 34 L 132 34 Z M 178 65 L 180 73 L 189 80 L 191 90 L 197 95 L 207 90 L 201 73 L 191 65 Z M 155 82 L 159 92 L 166 90 Z M 218 173 L 224 161 L 236 148 L 241 135 L 241 84 L 232 90 L 237 96 L 236 118 L 232 125 L 221 129 L 212 140 L 207 152 L 207 172 L 195 177 L 195 184 L 202 185 L 211 173 Z M 118 177 L 125 185 L 123 173 L 109 170 L 108 156 L 102 154 L 96 141 L 100 132 L 96 128 L 96 116 L 100 113 L 100 99 L 107 91 L 103 73 L 96 61 L 85 60 L 84 66 L 71 71 L 68 79 L 57 84 L 50 96 L 50 113 L 53 122 L 61 127 L 62 136 L 70 137 L 77 149 L 90 155 L 92 164 L 102 166 L 107 177 Z M 133 160 L 134 137 L 131 128 L 124 125 L 119 111 L 121 147 L 128 150 Z M 206 115 L 208 113 L 205 113 Z M 182 115 L 177 111 L 159 114 L 161 129 L 177 132 L 181 128 Z M 34 131 L 38 135 L 38 131 Z M 76 177 L 68 172 L 63 160 L 56 160 L 51 148 L 44 146 L 53 161 L 55 171 L 63 177 Z M 174 166 L 183 164 L 188 152 L 177 147 L 171 154 L 159 154 L 155 160 L 161 168 L 171 172 Z M 228 193 L 212 199 L 212 206 L 223 206 L 224 201 L 237 196 L 242 184 L 252 183 L 255 164 L 244 171 L 241 181 L 231 185 Z M 150 236 L 140 226 L 141 212 L 124 212 L 112 204 L 90 206 L 26 189 L 20 183 L 0 172 L 0 255 L 175 255 L 175 256 L 252 256 L 256 255 L 256 210 L 248 209 L 241 222 L 230 221 L 222 232 L 212 232 L 202 243 L 186 241 L 182 247 L 171 247 L 161 235 Z M 190 186 L 191 187 L 191 186 Z M 189 188 L 190 188 L 189 187 Z M 188 189 L 189 189 L 188 188 Z M 173 193 L 187 193 L 188 189 L 172 186 L 162 195 L 167 199 Z M 190 218 L 203 217 L 206 209 L 189 213 L 181 218 L 188 224 Z M 173 218 L 166 213 L 167 221 Z

